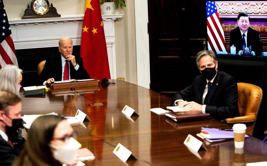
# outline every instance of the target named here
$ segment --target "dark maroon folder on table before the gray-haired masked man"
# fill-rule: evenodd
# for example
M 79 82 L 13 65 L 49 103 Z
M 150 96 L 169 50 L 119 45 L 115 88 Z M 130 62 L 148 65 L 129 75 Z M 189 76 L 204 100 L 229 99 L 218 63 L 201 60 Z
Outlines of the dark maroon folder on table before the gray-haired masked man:
M 182 112 L 169 112 L 167 113 L 170 119 L 175 122 L 189 122 L 189 121 L 199 121 L 199 120 L 209 120 L 209 113 L 203 113 L 201 111 L 182 111 Z

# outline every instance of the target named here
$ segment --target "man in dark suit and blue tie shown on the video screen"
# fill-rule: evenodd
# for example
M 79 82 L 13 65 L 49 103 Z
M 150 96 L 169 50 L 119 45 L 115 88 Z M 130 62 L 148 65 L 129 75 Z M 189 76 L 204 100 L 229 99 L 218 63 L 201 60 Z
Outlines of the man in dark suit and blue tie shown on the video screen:
M 263 52 L 261 37 L 256 30 L 249 27 L 249 15 L 245 12 L 237 16 L 237 25 L 230 32 L 230 47 L 236 47 L 236 54 L 244 56 L 261 56 Z M 243 49 L 244 46 L 244 49 Z M 251 49 L 249 49 L 251 46 Z

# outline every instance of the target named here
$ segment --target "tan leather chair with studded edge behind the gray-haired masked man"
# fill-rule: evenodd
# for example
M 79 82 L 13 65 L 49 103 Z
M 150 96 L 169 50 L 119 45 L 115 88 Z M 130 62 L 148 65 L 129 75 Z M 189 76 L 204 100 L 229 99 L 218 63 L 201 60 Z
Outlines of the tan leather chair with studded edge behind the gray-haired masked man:
M 228 124 L 244 123 L 246 133 L 252 135 L 262 100 L 262 89 L 253 84 L 237 83 L 240 117 L 227 118 Z

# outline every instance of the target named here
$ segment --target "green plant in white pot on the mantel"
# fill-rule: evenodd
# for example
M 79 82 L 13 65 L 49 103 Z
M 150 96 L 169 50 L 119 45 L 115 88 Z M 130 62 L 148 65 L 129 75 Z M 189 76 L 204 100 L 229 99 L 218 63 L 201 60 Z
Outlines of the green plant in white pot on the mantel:
M 126 0 L 99 0 L 101 5 L 101 12 L 103 14 L 114 14 L 115 6 L 121 4 L 121 6 L 126 7 Z

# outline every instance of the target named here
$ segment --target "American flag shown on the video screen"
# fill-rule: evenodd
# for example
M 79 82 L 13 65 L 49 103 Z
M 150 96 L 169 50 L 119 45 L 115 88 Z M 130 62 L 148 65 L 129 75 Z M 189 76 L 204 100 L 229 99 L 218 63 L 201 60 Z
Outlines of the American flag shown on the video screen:
M 224 32 L 221 21 L 217 12 L 215 1 L 206 1 L 207 9 L 207 33 L 208 33 L 208 50 L 215 53 L 226 51 Z

